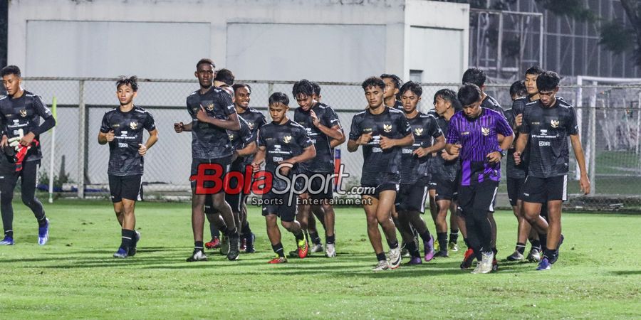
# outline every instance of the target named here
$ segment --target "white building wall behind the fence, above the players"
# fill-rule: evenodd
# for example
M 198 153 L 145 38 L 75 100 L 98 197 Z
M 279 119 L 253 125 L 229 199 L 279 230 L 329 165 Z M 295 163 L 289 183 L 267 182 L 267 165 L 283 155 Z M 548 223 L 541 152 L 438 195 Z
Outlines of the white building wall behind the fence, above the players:
M 426 0 L 13 0 L 9 64 L 26 76 L 459 82 L 469 6 Z

